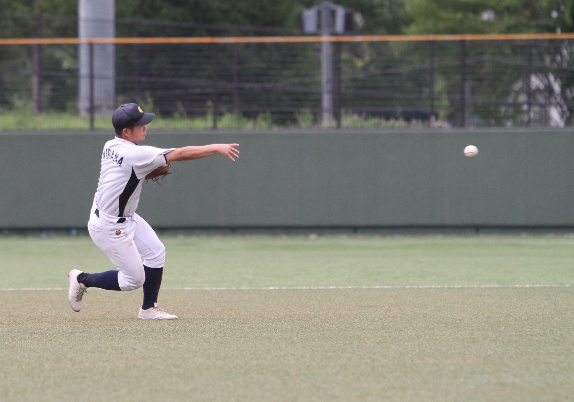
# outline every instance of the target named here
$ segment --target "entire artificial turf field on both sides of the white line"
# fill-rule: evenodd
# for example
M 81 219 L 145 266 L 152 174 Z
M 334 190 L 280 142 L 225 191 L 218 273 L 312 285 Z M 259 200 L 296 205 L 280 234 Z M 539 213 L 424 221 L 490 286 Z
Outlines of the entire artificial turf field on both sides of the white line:
M 574 392 L 572 238 L 162 240 L 160 304 L 180 319 L 149 322 L 136 318 L 141 289 L 90 289 L 82 311 L 69 308 L 69 269 L 111 268 L 89 238 L 0 238 L 0 399 L 550 401 Z M 559 286 L 295 289 L 514 284 Z

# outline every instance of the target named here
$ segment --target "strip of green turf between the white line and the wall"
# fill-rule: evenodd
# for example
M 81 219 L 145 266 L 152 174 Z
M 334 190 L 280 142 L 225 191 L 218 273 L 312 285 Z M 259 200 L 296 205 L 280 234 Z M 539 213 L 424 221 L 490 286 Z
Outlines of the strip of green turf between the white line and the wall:
M 163 286 L 574 284 L 569 237 L 161 237 Z M 89 237 L 0 238 L 0 288 L 113 269 Z

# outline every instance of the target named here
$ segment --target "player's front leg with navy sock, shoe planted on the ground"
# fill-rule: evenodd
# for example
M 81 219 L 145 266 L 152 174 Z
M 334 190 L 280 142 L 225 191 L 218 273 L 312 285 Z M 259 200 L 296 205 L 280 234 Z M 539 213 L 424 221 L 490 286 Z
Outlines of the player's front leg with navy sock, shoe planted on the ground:
M 134 214 L 134 220 L 137 223 L 134 242 L 139 254 L 144 258 L 145 270 L 144 303 L 139 310 L 138 317 L 142 319 L 177 318 L 177 316 L 167 314 L 157 307 L 157 296 L 160 292 L 164 272 L 165 246 L 144 218 Z

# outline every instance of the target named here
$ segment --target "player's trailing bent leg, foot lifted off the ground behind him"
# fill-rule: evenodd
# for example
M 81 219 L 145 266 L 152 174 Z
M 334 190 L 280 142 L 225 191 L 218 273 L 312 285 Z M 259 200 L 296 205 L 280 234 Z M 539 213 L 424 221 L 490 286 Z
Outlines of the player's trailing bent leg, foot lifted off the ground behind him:
M 100 217 L 102 215 L 100 212 Z M 92 215 L 88 222 L 90 237 L 106 253 L 117 270 L 99 273 L 72 270 L 68 275 L 68 301 L 74 311 L 82 308 L 82 296 L 86 288 L 131 291 L 144 284 L 144 264 L 133 241 L 136 226 L 137 223 L 131 218 L 123 223 L 107 223 Z

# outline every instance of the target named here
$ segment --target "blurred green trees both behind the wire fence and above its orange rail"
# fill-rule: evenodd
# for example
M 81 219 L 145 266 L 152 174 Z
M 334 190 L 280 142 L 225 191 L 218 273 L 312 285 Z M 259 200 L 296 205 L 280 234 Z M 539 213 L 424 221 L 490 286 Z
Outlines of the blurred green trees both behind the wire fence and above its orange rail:
M 362 14 L 364 34 L 455 34 L 574 32 L 574 2 L 565 0 L 338 0 Z M 317 0 L 126 0 L 116 3 L 117 36 L 272 36 L 299 34 L 301 11 Z M 0 0 L 0 37 L 75 37 L 77 1 Z M 207 121 L 213 105 L 205 94 L 218 86 L 219 110 L 224 125 L 245 118 L 261 125 L 307 126 L 316 123 L 320 105 L 319 46 L 286 51 L 290 45 L 250 45 L 234 53 L 220 46 L 212 58 L 205 47 L 180 47 L 179 57 L 162 51 L 164 45 L 116 48 L 118 102 L 149 102 L 165 118 L 196 118 Z M 530 47 L 529 47 L 530 46 Z M 262 51 L 262 48 L 265 48 Z M 366 111 L 429 110 L 453 124 L 460 120 L 460 47 L 436 43 L 434 83 L 429 82 L 429 42 L 362 43 L 343 45 L 343 107 Z M 0 47 L 0 110 L 31 107 L 30 76 L 34 69 L 29 46 Z M 77 47 L 41 47 L 42 104 L 46 111 L 75 113 L 77 97 Z M 290 57 L 285 63 L 285 52 Z M 532 53 L 532 77 L 526 65 Z M 532 102 L 555 105 L 562 121 L 574 115 L 574 49 L 567 41 L 467 42 L 468 106 L 471 124 L 507 125 L 525 123 L 524 103 L 528 80 Z M 270 86 L 233 83 L 236 66 L 241 83 L 256 83 L 269 75 Z M 269 65 L 284 65 L 269 72 Z M 235 66 L 235 67 L 234 67 Z M 170 72 L 153 87 L 153 79 Z M 190 75 L 193 71 L 193 76 Z M 501 74 L 503 71 L 505 74 Z M 136 81 L 132 76 L 144 77 Z M 301 77 L 307 82 L 301 86 Z M 163 79 L 163 78 L 162 78 Z M 299 83 L 297 84 L 297 80 Z M 212 82 L 215 82 L 212 84 Z M 186 86 L 203 86 L 199 92 Z M 289 98 L 288 90 L 299 85 L 300 98 Z M 235 91 L 235 92 L 234 92 Z M 211 95 L 210 95 L 211 96 Z M 302 100 L 301 100 L 302 99 Z M 506 105 L 508 104 L 508 105 Z M 223 106 L 222 106 L 223 105 Z M 502 106 L 501 106 L 502 105 Z M 356 108 L 348 114 L 354 115 Z M 281 118 L 270 109 L 281 110 Z M 542 106 L 541 106 L 542 109 Z M 238 113 L 242 110 L 243 114 Z M 533 112 L 534 113 L 534 112 Z M 189 115 L 189 116 L 188 116 Z M 211 114 L 212 115 L 212 114 Z M 375 117 L 378 118 L 378 117 Z M 534 113 L 534 121 L 548 115 Z M 384 120 L 384 119 L 383 119 Z M 355 119 L 352 124 L 362 124 Z M 209 123 L 211 124 L 211 123 Z M 231 124 L 231 123 L 230 123 Z M 259 123 L 258 123 L 259 124 Z M 369 125 L 373 121 L 369 121 Z

